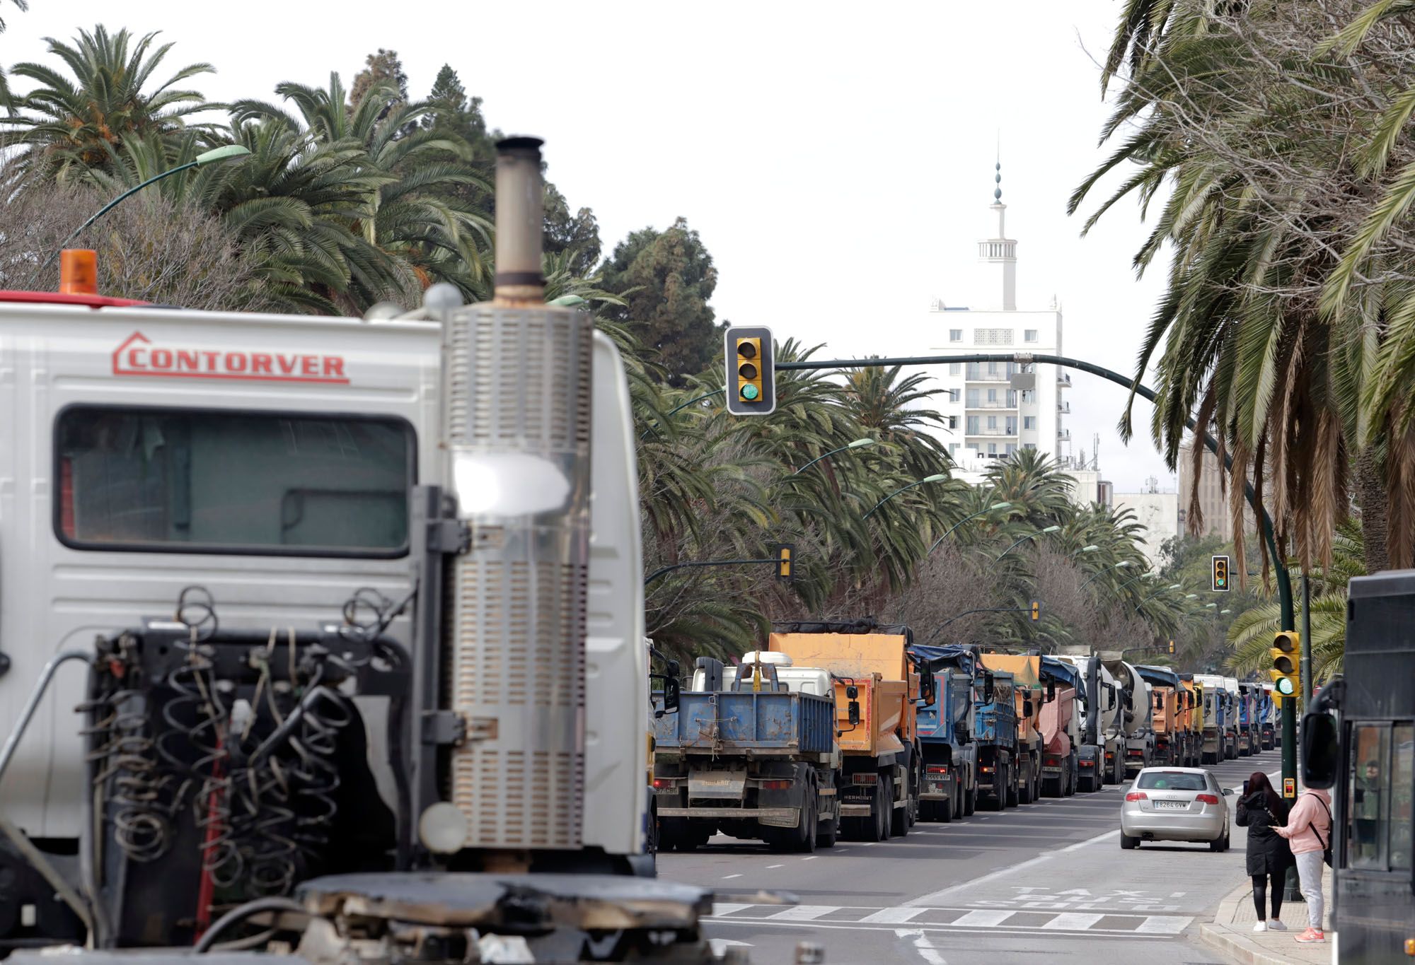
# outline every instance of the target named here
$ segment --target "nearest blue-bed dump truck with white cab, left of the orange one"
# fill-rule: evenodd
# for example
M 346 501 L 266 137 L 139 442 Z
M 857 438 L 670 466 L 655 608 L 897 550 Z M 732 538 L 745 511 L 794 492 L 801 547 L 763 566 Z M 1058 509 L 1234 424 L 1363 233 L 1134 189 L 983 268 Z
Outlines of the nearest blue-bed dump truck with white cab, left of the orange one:
M 739 666 L 699 658 L 678 710 L 654 724 L 659 850 L 692 850 L 715 833 L 773 850 L 835 845 L 833 693 L 829 672 L 785 654 L 751 652 Z

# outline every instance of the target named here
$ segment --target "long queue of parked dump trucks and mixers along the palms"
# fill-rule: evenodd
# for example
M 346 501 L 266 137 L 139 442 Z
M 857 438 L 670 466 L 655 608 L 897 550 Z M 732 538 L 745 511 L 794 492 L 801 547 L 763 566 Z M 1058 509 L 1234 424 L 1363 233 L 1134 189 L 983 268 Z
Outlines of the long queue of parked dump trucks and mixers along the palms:
M 699 658 L 655 717 L 658 849 L 886 840 L 1275 746 L 1269 686 L 1121 657 L 930 647 L 874 620 L 775 624 L 736 665 Z

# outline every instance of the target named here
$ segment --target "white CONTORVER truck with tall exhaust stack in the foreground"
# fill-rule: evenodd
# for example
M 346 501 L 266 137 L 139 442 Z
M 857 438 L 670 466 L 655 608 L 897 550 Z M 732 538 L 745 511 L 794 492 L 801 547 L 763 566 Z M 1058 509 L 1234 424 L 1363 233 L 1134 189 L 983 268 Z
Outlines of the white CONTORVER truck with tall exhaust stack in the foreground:
M 642 877 L 628 385 L 543 304 L 539 166 L 499 146 L 494 303 L 0 294 L 0 949 L 717 959 Z

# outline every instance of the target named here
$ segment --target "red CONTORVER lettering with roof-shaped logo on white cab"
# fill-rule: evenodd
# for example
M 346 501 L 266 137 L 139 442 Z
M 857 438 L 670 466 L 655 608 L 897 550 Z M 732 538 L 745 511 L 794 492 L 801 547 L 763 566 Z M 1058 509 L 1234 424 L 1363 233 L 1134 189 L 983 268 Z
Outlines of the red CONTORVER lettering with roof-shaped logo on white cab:
M 348 385 L 342 355 L 249 352 L 238 348 L 166 348 L 134 331 L 113 352 L 113 375 L 157 375 L 245 382 Z

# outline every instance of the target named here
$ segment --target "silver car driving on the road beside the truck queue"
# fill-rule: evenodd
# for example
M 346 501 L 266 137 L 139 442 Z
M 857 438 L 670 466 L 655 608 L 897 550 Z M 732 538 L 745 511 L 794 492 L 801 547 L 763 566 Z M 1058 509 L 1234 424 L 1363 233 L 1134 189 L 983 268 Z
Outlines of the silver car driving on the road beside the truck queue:
M 1231 788 L 1200 767 L 1146 767 L 1121 805 L 1121 848 L 1142 840 L 1201 840 L 1228 850 Z

